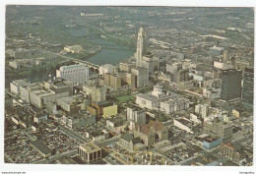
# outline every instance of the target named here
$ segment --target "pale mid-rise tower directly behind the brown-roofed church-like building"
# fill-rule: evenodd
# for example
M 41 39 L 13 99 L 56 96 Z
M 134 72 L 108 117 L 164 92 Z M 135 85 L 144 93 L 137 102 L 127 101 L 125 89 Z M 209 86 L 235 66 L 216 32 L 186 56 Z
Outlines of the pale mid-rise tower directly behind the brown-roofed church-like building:
M 134 130 L 135 125 L 145 125 L 146 111 L 137 106 L 127 107 L 127 123 L 129 124 L 130 130 Z

